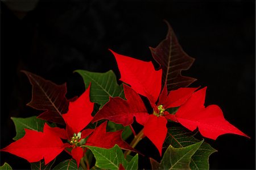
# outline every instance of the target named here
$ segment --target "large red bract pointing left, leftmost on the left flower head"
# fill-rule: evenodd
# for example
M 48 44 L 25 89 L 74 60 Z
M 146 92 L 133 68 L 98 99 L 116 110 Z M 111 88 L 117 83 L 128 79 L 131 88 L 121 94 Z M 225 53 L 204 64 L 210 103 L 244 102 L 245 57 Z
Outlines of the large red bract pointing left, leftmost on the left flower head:
M 23 157 L 30 163 L 40 161 L 44 158 L 46 164 L 55 159 L 64 150 L 64 144 L 51 131 L 51 127 L 44 124 L 43 132 L 28 130 L 23 138 L 16 140 L 1 151 L 9 152 L 19 157 Z

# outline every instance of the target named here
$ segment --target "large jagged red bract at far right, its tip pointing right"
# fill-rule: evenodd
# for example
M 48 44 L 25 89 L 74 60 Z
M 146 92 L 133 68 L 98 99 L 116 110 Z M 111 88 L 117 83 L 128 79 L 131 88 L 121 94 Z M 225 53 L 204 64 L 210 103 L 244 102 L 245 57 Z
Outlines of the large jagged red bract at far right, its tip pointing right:
M 249 138 L 225 120 L 220 107 L 210 105 L 205 108 L 206 89 L 203 88 L 193 93 L 191 98 L 177 110 L 174 121 L 181 123 L 191 131 L 198 127 L 203 136 L 214 140 L 222 134 L 237 134 Z

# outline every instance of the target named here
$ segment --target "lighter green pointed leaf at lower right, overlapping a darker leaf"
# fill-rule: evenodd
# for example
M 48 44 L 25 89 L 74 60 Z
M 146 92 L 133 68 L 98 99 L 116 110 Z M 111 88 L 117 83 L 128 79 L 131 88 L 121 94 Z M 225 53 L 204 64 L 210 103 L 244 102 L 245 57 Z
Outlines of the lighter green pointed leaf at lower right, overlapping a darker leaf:
M 160 162 L 160 169 L 190 169 L 189 164 L 192 155 L 199 149 L 201 142 L 187 147 L 174 148 L 171 145 L 167 148 Z

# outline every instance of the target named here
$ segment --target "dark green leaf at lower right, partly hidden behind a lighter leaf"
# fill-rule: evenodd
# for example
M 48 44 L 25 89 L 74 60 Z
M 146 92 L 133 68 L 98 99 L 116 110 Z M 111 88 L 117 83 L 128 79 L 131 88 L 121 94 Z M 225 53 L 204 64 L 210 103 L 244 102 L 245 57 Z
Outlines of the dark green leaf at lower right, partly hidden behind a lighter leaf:
M 170 127 L 168 128 L 167 138 L 163 144 L 163 147 L 171 146 L 179 148 L 186 147 L 191 144 L 197 143 L 200 140 L 193 137 L 194 132 L 188 131 L 184 127 Z M 208 143 L 204 142 L 201 144 L 199 149 L 191 158 L 190 168 L 191 169 L 209 169 L 209 156 L 217 152 Z

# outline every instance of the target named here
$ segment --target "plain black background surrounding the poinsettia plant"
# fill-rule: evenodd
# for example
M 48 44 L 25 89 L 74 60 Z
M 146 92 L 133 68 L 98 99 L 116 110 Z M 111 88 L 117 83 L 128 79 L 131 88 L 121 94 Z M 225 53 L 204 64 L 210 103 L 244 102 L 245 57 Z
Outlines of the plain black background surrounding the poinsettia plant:
M 113 49 L 152 60 L 167 34 L 166 19 L 195 63 L 183 74 L 208 86 L 206 105 L 217 104 L 225 118 L 251 139 L 223 135 L 207 140 L 217 153 L 210 169 L 255 169 L 255 2 L 48 1 L 26 13 L 1 2 L 1 148 L 15 127 L 10 117 L 30 117 L 31 85 L 21 69 L 56 84 L 67 82 L 71 98 L 84 91 L 76 69 L 118 74 Z M 66 156 L 66 155 L 64 155 Z M 1 165 L 27 169 L 26 160 L 1 152 Z

